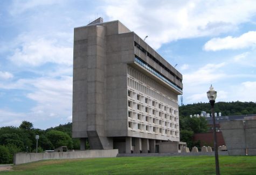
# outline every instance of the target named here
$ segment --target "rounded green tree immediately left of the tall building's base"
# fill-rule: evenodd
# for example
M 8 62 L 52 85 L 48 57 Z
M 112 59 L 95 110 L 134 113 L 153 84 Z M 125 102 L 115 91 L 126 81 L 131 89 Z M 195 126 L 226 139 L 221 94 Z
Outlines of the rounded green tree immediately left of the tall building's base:
M 51 141 L 54 148 L 67 146 L 68 149 L 73 149 L 73 141 L 67 133 L 50 130 L 46 133 L 46 137 Z

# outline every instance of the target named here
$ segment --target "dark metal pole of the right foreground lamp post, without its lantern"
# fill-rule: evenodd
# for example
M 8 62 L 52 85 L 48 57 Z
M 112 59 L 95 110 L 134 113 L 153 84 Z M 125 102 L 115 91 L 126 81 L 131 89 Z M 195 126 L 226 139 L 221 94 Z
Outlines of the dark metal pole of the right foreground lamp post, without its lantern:
M 210 100 L 211 111 L 212 111 L 212 124 L 213 124 L 213 138 L 214 138 L 214 151 L 215 151 L 215 166 L 216 174 L 219 175 L 219 156 L 218 156 L 218 146 L 217 146 L 217 136 L 216 136 L 216 125 L 215 125 L 215 113 L 214 113 L 214 104 L 215 100 Z

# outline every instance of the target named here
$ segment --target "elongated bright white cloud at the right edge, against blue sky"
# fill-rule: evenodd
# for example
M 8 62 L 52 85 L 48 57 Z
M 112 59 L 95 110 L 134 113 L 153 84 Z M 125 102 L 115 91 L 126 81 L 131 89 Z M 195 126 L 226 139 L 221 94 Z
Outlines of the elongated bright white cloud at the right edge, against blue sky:
M 204 45 L 204 50 L 243 49 L 256 46 L 256 31 L 250 31 L 239 37 L 213 38 Z

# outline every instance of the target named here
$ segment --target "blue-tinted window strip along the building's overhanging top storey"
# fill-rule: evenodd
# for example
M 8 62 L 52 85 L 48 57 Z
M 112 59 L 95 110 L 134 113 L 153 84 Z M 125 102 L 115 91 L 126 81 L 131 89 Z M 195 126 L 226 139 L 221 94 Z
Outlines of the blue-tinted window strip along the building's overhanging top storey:
M 156 71 L 155 69 L 151 68 L 147 63 L 143 62 L 141 59 L 139 59 L 138 57 L 135 57 L 135 62 L 139 63 L 140 65 L 142 65 L 142 67 L 146 68 L 147 70 L 149 70 L 150 72 L 152 72 L 154 75 L 156 75 L 157 77 L 161 78 L 164 82 L 166 82 L 167 84 L 169 84 L 170 86 L 172 86 L 172 88 L 176 89 L 177 91 L 182 93 L 182 89 L 179 88 L 177 85 L 175 85 L 174 83 L 172 83 L 171 81 L 169 81 L 169 79 L 165 78 L 162 74 L 160 74 L 158 71 Z

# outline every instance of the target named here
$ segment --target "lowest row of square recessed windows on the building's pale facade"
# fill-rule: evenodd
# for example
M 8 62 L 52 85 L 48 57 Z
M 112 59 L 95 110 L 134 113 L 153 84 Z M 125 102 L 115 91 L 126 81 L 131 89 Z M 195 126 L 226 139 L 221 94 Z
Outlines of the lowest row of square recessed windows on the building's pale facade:
M 132 121 L 128 122 L 128 128 L 130 130 L 140 131 L 144 133 L 161 134 L 161 135 L 175 136 L 175 137 L 178 137 L 178 134 L 179 134 L 178 131 L 158 128 L 155 126 L 143 125 L 143 124 L 132 122 Z

